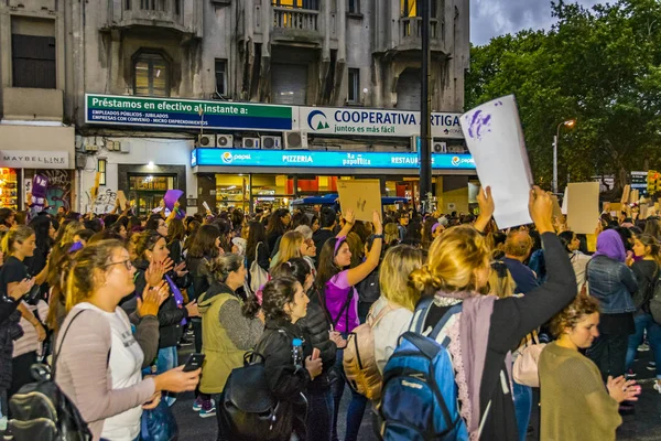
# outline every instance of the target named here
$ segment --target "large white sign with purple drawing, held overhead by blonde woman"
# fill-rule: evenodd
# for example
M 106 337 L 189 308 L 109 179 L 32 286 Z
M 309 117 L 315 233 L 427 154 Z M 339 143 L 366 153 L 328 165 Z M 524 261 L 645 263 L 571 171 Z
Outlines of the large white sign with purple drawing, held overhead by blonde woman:
M 483 186 L 490 186 L 499 228 L 531 224 L 532 173 L 513 95 L 486 103 L 460 118 Z

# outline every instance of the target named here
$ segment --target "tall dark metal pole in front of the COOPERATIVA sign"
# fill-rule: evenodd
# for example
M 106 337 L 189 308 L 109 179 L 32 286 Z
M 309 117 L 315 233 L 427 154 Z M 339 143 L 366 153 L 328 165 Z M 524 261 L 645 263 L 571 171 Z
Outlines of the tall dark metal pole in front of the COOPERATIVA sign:
M 423 212 L 426 211 L 427 193 L 432 191 L 432 154 L 431 154 L 431 94 L 430 94 L 430 0 L 418 1 L 422 18 L 422 85 L 420 112 L 420 201 Z

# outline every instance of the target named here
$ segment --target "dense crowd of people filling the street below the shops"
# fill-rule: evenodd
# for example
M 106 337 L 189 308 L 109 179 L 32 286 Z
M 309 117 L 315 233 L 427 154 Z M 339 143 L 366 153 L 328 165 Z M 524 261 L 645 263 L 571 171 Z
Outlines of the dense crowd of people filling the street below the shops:
M 394 375 L 402 335 L 418 330 L 452 363 L 452 439 L 527 439 L 534 386 L 516 365 L 545 344 L 532 367 L 541 440 L 614 440 L 640 394 L 638 351 L 653 352 L 661 392 L 661 325 L 650 312 L 659 218 L 603 214 L 590 256 L 539 187 L 529 226 L 499 230 L 489 189 L 478 203 L 478 215 L 402 209 L 370 222 L 328 207 L 31 219 L 0 208 L 2 429 L 9 400 L 44 363 L 95 441 L 139 440 L 144 410 L 191 390 L 192 411 L 216 417 L 218 440 L 240 440 L 225 389 L 251 358 L 286 417 L 279 439 L 337 441 L 344 427 L 357 440 L 369 408 L 379 439 L 403 424 L 389 408 L 407 406 L 405 394 L 381 396 L 380 380 Z M 184 372 L 177 348 L 187 345 L 205 355 L 201 369 Z M 347 367 L 358 347 L 368 347 L 358 375 L 371 367 L 378 379 L 369 392 Z

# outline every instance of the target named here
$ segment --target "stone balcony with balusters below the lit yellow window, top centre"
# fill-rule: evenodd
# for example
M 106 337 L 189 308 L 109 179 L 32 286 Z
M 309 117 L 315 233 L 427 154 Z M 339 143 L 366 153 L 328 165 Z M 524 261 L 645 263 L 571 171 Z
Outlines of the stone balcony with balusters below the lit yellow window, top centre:
M 273 40 L 321 44 L 319 11 L 273 7 Z

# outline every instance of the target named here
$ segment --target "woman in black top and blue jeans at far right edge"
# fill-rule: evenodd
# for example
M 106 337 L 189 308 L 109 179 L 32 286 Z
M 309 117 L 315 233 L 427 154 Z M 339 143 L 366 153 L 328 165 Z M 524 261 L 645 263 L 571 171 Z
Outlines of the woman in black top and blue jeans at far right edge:
M 639 235 L 633 240 L 636 257 L 642 257 L 631 265 L 631 270 L 638 282 L 638 291 L 632 295 L 637 310 L 633 313 L 636 332 L 629 335 L 627 347 L 626 369 L 628 377 L 635 377 L 633 359 L 638 346 L 642 344 L 647 331 L 650 348 L 657 363 L 657 383 L 654 389 L 661 390 L 661 325 L 657 324 L 650 314 L 650 299 L 654 295 L 654 283 L 659 280 L 659 241 L 648 234 Z

